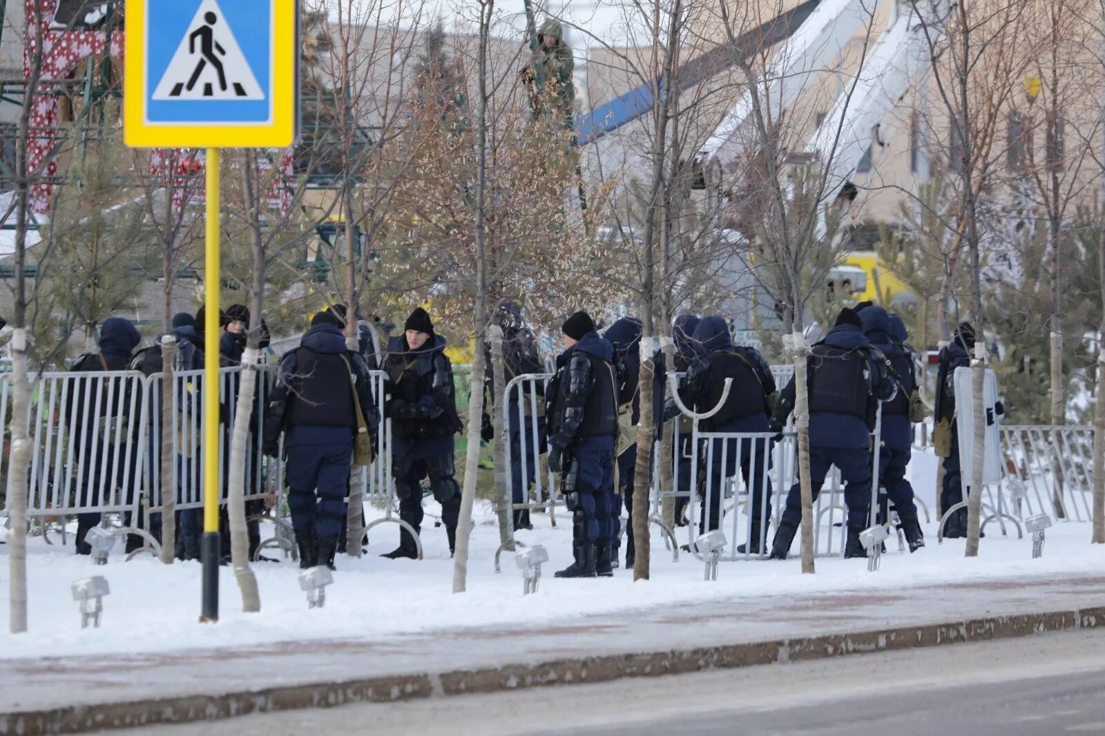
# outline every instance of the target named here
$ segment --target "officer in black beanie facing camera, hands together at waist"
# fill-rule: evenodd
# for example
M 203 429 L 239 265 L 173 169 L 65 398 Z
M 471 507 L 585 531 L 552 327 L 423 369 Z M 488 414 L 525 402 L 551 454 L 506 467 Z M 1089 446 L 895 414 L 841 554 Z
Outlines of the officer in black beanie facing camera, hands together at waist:
M 399 498 L 399 518 L 415 534 L 422 528 L 422 480 L 430 479 L 433 497 L 441 504 L 441 521 L 449 551 L 456 549 L 456 522 L 461 487 L 456 483 L 453 435 L 461 431 L 453 388 L 453 366 L 445 356 L 445 338 L 434 333 L 427 311 L 419 307 L 403 325 L 404 332 L 388 345 L 383 371 L 391 401 L 391 476 Z M 418 558 L 414 537 L 402 528 L 399 547 L 389 559 Z

